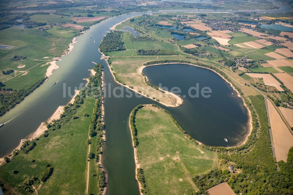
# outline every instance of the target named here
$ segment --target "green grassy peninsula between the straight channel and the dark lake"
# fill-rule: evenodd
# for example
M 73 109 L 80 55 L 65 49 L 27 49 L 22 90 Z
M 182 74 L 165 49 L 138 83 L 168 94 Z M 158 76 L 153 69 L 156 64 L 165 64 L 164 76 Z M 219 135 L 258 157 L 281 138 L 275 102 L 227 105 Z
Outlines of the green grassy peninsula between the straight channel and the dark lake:
M 186 138 L 163 110 L 141 108 L 135 125 L 148 194 L 190 194 L 197 190 L 190 177 L 217 166 L 217 154 Z

